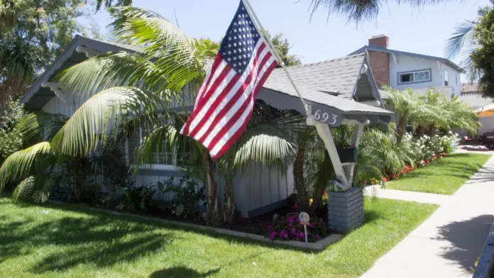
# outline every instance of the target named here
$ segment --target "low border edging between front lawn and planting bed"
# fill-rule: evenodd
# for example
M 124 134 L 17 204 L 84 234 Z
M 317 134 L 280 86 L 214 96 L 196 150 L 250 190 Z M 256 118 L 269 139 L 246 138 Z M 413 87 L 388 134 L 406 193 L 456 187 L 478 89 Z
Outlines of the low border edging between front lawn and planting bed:
M 65 203 L 62 201 L 52 201 L 50 200 L 50 204 L 69 204 Z M 273 244 L 278 244 L 278 245 L 286 245 L 286 246 L 291 246 L 295 248 L 304 248 L 304 249 L 310 249 L 310 250 L 324 250 L 327 246 L 331 245 L 332 243 L 336 243 L 336 241 L 340 240 L 343 238 L 343 235 L 339 234 L 331 234 L 327 236 L 326 238 L 323 238 L 322 240 L 317 241 L 316 243 L 305 243 L 302 241 L 295 241 L 295 240 L 270 240 L 269 238 L 266 238 L 263 235 L 255 235 L 253 233 L 242 233 L 238 232 L 237 230 L 227 230 L 224 228 L 214 228 L 211 226 L 202 226 L 202 225 L 196 225 L 192 223 L 185 223 L 185 222 L 180 222 L 180 221 L 172 221 L 168 219 L 162 219 L 162 218 L 154 218 L 154 217 L 149 217 L 149 216 L 141 216 L 138 214 L 132 214 L 132 213 L 123 213 L 119 211 L 111 211 L 111 210 L 106 210 L 103 208 L 93 208 L 92 206 L 84 206 L 81 204 L 69 204 L 71 206 L 79 206 L 82 208 L 89 208 L 93 211 L 99 211 L 103 213 L 109 213 L 113 214 L 115 216 L 131 216 L 131 217 L 136 217 L 136 218 L 141 218 L 144 220 L 148 221 L 158 221 L 161 223 L 166 223 L 172 226 L 182 226 L 182 227 L 187 227 L 187 228 L 194 228 L 198 230 L 207 230 L 207 231 L 212 231 L 215 233 L 219 233 L 221 235 L 232 235 L 238 238 L 248 238 L 251 240 L 257 240 L 257 241 L 262 241 L 265 243 L 273 243 Z

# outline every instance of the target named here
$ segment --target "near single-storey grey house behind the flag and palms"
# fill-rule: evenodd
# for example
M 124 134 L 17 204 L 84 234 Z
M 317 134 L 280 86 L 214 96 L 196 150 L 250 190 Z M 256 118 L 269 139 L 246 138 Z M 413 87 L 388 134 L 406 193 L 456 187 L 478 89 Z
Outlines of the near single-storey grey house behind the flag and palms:
M 119 43 L 84 38 L 77 35 L 72 43 L 46 68 L 35 84 L 23 96 L 22 102 L 28 111 L 45 111 L 71 116 L 84 104 L 89 96 L 81 96 L 74 91 L 64 91 L 60 84 L 52 82 L 58 72 L 77 65 L 89 57 L 104 52 L 139 52 L 138 48 Z M 378 86 L 373 73 L 368 70 L 366 52 L 341 57 L 339 59 L 290 67 L 297 87 L 312 111 L 324 111 L 331 115 L 332 126 L 353 123 L 363 128 L 369 123 L 389 123 L 393 113 L 383 109 Z M 193 95 L 184 92 L 185 106 L 192 107 Z M 294 109 L 304 113 L 297 92 L 293 89 L 282 70 L 275 70 L 266 80 L 258 99 L 278 109 Z M 176 101 L 175 99 L 171 100 Z M 368 105 L 371 104 L 371 105 Z M 327 118 L 327 117 L 326 117 Z M 141 138 L 128 138 L 126 148 L 131 152 Z M 160 152 L 163 157 L 152 167 L 140 169 L 136 184 L 157 184 L 168 177 L 181 177 L 182 169 L 176 166 L 177 152 Z M 221 179 L 217 179 L 220 187 Z M 234 202 L 237 212 L 243 217 L 258 216 L 283 205 L 283 201 L 294 192 L 292 169 L 286 173 L 256 165 L 243 179 L 234 182 Z M 223 194 L 220 193 L 220 196 Z

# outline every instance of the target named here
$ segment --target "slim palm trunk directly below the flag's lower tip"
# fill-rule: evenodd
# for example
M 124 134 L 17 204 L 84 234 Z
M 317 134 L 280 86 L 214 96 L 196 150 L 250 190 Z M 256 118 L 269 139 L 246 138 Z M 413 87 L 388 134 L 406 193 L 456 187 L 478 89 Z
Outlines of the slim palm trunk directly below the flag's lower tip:
M 202 167 L 204 167 L 204 182 L 207 190 L 207 218 L 216 226 L 221 222 L 221 204 L 218 198 L 218 184 L 214 179 L 213 162 L 207 150 L 202 154 Z

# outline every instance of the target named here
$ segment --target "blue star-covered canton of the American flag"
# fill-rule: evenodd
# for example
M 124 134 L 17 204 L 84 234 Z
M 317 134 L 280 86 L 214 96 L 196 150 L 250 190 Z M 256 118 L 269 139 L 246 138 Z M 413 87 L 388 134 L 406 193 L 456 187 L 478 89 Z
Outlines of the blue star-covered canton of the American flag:
M 221 42 L 219 52 L 231 68 L 241 75 L 251 61 L 252 55 L 255 55 L 254 48 L 259 39 L 260 34 L 241 1 L 234 20 L 231 21 L 225 38 Z

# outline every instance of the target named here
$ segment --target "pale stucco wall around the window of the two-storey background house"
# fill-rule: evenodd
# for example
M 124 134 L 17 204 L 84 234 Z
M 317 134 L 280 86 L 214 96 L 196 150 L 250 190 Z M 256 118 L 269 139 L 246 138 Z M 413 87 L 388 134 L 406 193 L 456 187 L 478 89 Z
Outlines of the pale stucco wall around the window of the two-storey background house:
M 442 87 L 444 86 L 444 69 L 449 72 L 449 86 L 453 87 L 454 93 L 461 94 L 461 80 L 456 83 L 456 77 L 459 77 L 459 72 L 453 68 L 444 65 L 443 63 L 437 63 L 434 60 L 420 59 L 417 57 L 411 57 L 408 55 L 390 55 L 390 86 L 399 90 L 407 88 L 411 89 L 423 89 L 429 87 Z M 410 84 L 398 84 L 398 73 L 411 72 L 415 70 L 427 70 L 431 69 L 432 80 L 430 82 L 419 82 Z

